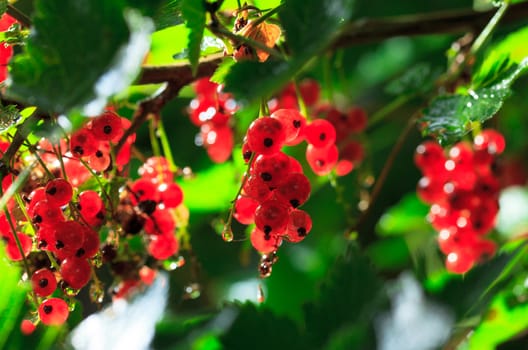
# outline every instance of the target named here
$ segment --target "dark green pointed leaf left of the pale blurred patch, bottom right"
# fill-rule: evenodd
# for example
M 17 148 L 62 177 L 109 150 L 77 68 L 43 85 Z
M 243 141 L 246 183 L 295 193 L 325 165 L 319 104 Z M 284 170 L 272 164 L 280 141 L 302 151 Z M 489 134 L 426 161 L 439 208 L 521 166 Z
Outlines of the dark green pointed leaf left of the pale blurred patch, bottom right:
M 369 327 L 386 298 L 370 262 L 352 246 L 319 290 L 319 298 L 305 306 L 306 333 L 315 348 L 329 343 L 342 327 Z

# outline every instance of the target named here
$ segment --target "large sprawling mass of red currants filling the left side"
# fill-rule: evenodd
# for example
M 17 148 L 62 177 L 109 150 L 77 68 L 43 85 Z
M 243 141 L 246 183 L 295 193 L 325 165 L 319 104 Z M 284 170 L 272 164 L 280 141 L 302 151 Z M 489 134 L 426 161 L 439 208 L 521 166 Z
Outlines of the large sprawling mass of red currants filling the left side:
M 120 174 L 129 163 L 135 134 L 117 154 L 113 146 L 129 125 L 128 119 L 105 111 L 65 139 L 42 139 L 36 146 L 20 149 L 3 177 L 6 193 L 18 174 L 31 169 L 29 181 L 0 214 L 6 255 L 13 261 L 24 260 L 31 280 L 30 302 L 37 311 L 21 325 L 26 334 L 38 322 L 64 323 L 73 297 L 90 282 L 92 299 L 101 302 L 104 292 L 96 273 L 103 263 L 116 277 L 117 295 L 125 296 L 139 281 L 152 282 L 155 268 L 149 266 L 158 266 L 156 260 L 178 252 L 174 231 L 183 212 L 183 193 L 174 183 L 168 161 L 147 159 L 139 168 L 141 178 L 121 185 L 125 182 L 120 182 Z M 9 145 L 0 142 L 0 153 Z M 114 184 L 119 187 L 112 190 Z M 145 233 L 140 240 L 143 247 L 136 252 L 119 244 L 140 232 Z

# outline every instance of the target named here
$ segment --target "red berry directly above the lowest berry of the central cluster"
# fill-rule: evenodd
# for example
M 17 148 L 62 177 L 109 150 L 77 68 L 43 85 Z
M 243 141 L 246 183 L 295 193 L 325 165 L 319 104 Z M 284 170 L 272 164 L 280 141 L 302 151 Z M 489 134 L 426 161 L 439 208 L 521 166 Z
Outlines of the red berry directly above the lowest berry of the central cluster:
M 289 209 L 276 199 L 262 202 L 255 210 L 255 224 L 266 235 L 281 235 L 286 230 Z

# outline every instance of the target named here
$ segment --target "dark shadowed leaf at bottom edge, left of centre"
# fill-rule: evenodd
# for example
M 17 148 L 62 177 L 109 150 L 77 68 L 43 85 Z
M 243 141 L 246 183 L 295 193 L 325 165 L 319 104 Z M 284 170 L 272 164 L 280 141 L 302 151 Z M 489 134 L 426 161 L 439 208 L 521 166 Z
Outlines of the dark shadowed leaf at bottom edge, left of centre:
M 236 318 L 220 337 L 224 349 L 306 349 L 295 323 L 265 306 L 247 302 L 235 305 L 232 311 Z

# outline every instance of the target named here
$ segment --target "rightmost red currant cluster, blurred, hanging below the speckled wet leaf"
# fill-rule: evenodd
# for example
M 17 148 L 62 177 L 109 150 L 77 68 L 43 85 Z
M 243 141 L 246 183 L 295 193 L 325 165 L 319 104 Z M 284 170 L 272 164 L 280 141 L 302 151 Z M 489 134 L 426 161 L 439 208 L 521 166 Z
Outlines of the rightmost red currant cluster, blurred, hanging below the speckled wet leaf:
M 493 168 L 504 149 L 504 137 L 492 129 L 472 144 L 453 145 L 447 154 L 434 141 L 416 149 L 415 163 L 423 174 L 417 193 L 431 204 L 428 219 L 438 231 L 448 271 L 465 273 L 495 254 L 495 243 L 484 236 L 494 228 L 499 210 L 500 184 Z

